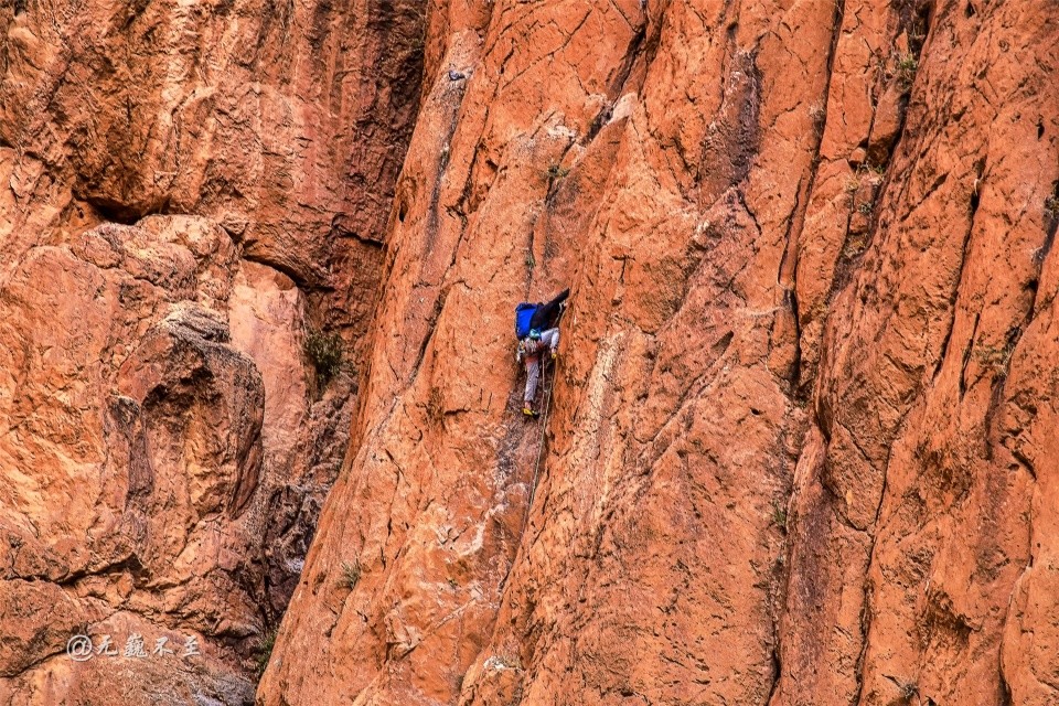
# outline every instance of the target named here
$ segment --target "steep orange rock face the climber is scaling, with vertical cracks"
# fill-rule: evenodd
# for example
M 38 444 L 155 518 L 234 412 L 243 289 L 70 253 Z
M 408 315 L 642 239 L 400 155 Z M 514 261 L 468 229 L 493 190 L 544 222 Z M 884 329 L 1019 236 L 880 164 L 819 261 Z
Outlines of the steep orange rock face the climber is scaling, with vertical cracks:
M 1050 7 L 435 2 L 261 704 L 1048 704 Z M 512 309 L 573 286 L 549 415 Z

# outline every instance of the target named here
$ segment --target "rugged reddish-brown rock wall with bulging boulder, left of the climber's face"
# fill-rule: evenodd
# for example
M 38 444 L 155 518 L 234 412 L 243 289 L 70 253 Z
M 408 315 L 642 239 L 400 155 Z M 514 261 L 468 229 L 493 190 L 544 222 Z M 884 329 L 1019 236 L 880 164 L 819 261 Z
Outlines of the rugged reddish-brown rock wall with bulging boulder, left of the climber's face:
M 424 22 L 0 4 L 0 703 L 253 700 L 347 446 Z M 307 331 L 344 339 L 327 385 Z

